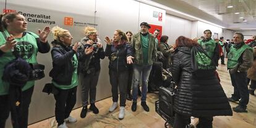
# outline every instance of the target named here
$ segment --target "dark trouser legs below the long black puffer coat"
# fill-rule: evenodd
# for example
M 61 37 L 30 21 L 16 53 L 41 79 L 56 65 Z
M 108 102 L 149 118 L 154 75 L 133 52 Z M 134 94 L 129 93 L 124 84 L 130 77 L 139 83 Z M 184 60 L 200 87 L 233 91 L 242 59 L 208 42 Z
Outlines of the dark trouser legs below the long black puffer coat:
M 212 128 L 213 127 L 213 117 L 198 117 L 199 122 L 197 124 L 198 128 Z M 182 114 L 175 114 L 174 119 L 174 128 L 186 128 L 188 124 L 190 124 L 190 116 L 184 116 Z

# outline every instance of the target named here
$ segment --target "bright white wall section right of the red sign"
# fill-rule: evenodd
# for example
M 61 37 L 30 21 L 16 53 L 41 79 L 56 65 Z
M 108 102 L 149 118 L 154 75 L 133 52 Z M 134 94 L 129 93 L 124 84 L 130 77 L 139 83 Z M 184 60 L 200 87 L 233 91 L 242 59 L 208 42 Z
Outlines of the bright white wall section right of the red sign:
M 184 18 L 166 14 L 163 34 L 169 36 L 168 44 L 174 44 L 179 36 L 191 37 L 192 22 Z

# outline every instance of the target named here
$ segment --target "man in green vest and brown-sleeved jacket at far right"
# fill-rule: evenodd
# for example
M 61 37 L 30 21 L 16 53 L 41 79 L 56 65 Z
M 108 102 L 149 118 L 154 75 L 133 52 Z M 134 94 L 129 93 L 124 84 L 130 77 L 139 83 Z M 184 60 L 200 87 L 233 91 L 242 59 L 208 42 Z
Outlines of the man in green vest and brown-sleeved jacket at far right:
M 239 105 L 233 108 L 237 113 L 247 112 L 249 103 L 249 90 L 247 87 L 247 71 L 252 66 L 252 48 L 244 43 L 244 35 L 235 33 L 233 36 L 234 46 L 228 54 L 228 70 L 231 77 L 234 93 L 228 98 L 230 102 L 238 102 Z M 239 100 L 241 99 L 241 100 Z

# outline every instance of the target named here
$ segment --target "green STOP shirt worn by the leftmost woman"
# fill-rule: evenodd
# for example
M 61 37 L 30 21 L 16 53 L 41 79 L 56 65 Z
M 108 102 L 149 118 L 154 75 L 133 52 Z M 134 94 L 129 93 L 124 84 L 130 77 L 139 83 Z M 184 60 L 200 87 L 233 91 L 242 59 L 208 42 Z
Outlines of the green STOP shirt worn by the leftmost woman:
M 10 36 L 8 31 L 4 31 L 6 36 Z M 29 34 L 30 33 L 30 34 Z M 17 45 L 14 47 L 15 54 L 22 57 L 28 63 L 37 63 L 36 54 L 38 47 L 36 44 L 36 38 L 39 38 L 35 33 L 29 32 L 22 38 L 15 38 Z M 0 33 L 0 46 L 6 43 L 4 35 Z M 9 93 L 9 83 L 2 81 L 2 75 L 4 73 L 4 66 L 15 59 L 13 52 L 9 50 L 0 57 L 0 95 L 7 95 Z M 22 88 L 23 90 L 30 89 L 35 84 L 35 81 L 28 81 L 27 84 Z

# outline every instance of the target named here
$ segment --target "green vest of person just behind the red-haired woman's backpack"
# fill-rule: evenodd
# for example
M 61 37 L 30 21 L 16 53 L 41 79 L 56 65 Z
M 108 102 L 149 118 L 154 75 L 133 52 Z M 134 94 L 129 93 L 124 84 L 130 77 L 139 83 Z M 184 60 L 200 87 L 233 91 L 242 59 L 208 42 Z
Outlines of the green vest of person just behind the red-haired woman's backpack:
M 215 47 L 216 47 L 216 42 L 213 41 L 213 39 L 210 39 L 210 41 L 207 41 L 207 42 L 203 42 L 202 39 L 199 39 L 198 40 L 198 44 L 200 44 L 203 49 L 205 50 L 205 52 L 207 52 L 207 54 L 209 55 L 209 57 L 213 57 L 213 54 L 214 54 L 214 50 L 215 50 Z

